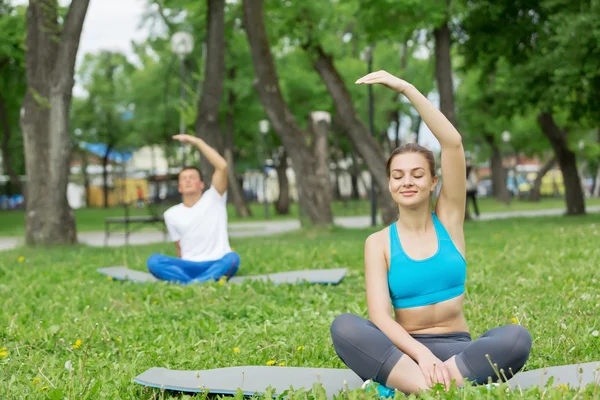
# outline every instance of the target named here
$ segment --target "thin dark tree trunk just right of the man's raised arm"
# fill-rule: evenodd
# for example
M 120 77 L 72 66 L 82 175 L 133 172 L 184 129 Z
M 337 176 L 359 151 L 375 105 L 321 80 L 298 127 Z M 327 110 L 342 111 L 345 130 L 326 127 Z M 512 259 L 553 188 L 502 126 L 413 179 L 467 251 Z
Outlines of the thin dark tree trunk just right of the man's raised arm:
M 227 71 L 227 76 L 231 82 L 235 80 L 235 68 L 232 67 Z M 244 191 L 240 186 L 240 182 L 235 176 L 235 160 L 233 157 L 233 149 L 235 148 L 235 103 L 236 96 L 233 90 L 229 90 L 227 96 L 227 120 L 225 122 L 225 160 L 227 161 L 227 180 L 229 192 L 231 193 L 231 200 L 235 206 L 235 212 L 238 217 L 248 218 L 252 216 L 252 211 L 246 199 L 244 198 Z

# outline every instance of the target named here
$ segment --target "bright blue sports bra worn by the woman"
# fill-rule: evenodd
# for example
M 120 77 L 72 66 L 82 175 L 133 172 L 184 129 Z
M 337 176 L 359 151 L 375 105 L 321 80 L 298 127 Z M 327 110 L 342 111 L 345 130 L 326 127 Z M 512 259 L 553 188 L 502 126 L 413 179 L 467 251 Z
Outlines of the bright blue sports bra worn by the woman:
M 467 263 L 434 212 L 438 250 L 424 260 L 413 260 L 402 249 L 396 223 L 390 225 L 388 285 L 394 308 L 439 303 L 465 291 Z

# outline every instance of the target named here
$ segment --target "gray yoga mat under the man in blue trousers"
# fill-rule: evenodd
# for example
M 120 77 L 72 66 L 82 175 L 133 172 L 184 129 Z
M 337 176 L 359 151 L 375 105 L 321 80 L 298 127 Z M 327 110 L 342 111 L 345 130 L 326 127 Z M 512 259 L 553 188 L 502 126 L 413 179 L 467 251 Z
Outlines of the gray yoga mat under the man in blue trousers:
M 158 282 L 158 279 L 148 272 L 134 271 L 127 267 L 99 268 L 97 271 L 117 280 L 129 280 L 140 283 Z M 229 279 L 228 282 L 241 283 L 246 280 L 261 280 L 263 282 L 271 281 L 275 284 L 308 282 L 311 284 L 337 285 L 342 281 L 346 275 L 346 272 L 348 272 L 346 268 L 305 269 L 300 271 L 278 272 L 266 275 L 234 276 Z

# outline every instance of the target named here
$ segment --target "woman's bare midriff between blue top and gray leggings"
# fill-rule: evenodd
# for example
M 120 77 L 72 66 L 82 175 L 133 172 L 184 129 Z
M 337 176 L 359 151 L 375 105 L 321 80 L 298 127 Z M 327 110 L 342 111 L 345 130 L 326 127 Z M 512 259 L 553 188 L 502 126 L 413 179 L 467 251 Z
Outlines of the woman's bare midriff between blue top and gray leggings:
M 464 295 L 428 306 L 397 308 L 398 322 L 410 334 L 469 332 L 462 311 Z

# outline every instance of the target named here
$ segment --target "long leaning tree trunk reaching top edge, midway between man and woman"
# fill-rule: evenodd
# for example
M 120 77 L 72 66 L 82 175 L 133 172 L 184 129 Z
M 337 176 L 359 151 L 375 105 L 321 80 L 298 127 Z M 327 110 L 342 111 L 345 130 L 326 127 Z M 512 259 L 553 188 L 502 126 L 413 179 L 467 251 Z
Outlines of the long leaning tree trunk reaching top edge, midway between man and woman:
M 306 144 L 303 132 L 289 110 L 279 88 L 277 69 L 269 47 L 263 16 L 263 0 L 244 0 L 244 26 L 250 43 L 256 73 L 255 89 L 273 128 L 290 152 L 297 177 L 302 214 L 314 225 L 333 223 L 330 185 L 319 181 L 315 157 Z M 304 218 L 301 218 L 304 224 Z

